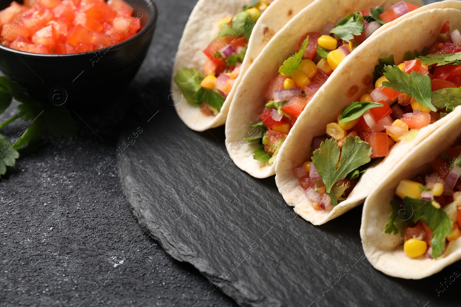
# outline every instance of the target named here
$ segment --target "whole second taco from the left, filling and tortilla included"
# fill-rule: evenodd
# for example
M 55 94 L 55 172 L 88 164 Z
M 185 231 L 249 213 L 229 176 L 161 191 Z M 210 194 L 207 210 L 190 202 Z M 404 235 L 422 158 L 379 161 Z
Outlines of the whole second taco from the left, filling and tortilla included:
M 411 1 L 386 1 L 386 8 L 381 2 L 316 0 L 278 32 L 231 104 L 226 147 L 237 167 L 257 178 L 275 174 L 288 133 L 319 88 L 341 79 L 340 63 L 370 36 L 420 10 Z

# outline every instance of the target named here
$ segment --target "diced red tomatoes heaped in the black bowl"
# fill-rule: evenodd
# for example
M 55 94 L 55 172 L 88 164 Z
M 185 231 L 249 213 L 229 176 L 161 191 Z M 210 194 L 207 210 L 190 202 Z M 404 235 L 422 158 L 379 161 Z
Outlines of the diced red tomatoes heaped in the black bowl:
M 124 0 L 13 1 L 0 11 L 1 44 L 34 53 L 78 53 L 125 41 L 141 28 Z

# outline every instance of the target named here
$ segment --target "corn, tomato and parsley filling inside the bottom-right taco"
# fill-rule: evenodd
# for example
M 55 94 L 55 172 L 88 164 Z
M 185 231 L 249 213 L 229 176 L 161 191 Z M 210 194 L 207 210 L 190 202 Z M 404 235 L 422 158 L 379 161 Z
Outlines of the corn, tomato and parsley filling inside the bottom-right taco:
M 384 230 L 400 233 L 403 250 L 412 258 L 437 259 L 449 242 L 461 237 L 461 145 L 443 151 L 430 164 L 431 173 L 400 181 Z

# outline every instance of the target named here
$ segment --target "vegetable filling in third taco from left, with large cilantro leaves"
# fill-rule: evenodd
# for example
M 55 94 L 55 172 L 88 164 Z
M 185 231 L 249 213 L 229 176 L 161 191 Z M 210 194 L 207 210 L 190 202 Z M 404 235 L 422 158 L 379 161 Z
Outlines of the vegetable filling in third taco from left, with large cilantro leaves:
M 313 138 L 310 161 L 293 168 L 313 209 L 333 209 L 396 142 L 413 140 L 461 104 L 461 34 L 449 28 L 446 22 L 430 48 L 405 52 L 402 64 L 392 54 L 379 58 L 374 86 Z

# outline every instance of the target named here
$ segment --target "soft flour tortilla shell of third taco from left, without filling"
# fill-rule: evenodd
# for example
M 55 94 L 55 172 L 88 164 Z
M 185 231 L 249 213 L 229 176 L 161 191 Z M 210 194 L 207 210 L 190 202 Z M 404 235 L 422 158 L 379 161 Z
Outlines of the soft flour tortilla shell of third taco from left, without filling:
M 381 31 L 370 41 L 359 46 L 346 58 L 344 65 L 338 68 L 337 73 L 340 77 L 329 79 L 320 88 L 298 118 L 293 127 L 295 133 L 290 133 L 286 139 L 276 165 L 275 179 L 278 189 L 285 201 L 295 207 L 297 214 L 315 225 L 320 225 L 354 208 L 400 162 L 402 156 L 461 111 L 455 110 L 449 116 L 420 129 L 413 141 L 401 141 L 394 145 L 389 156 L 376 166 L 368 168 L 347 200 L 339 203 L 331 211 L 314 210 L 312 201 L 304 195 L 305 190 L 299 184 L 299 179 L 293 175 L 292 168 L 310 158 L 313 137 L 325 135 L 326 125 L 336 122 L 337 114 L 352 101 L 358 101 L 365 93 L 364 80 L 367 76 L 371 77 L 374 65 L 378 64 L 378 58 L 394 54 L 395 62 L 402 63 L 406 51 L 422 50 L 425 46 L 431 46 L 445 21 L 450 21 L 452 29 L 461 29 L 460 17 L 460 10 L 447 8 L 431 9 L 404 18 L 398 25 Z M 354 87 L 358 90 L 351 96 L 349 91 Z

